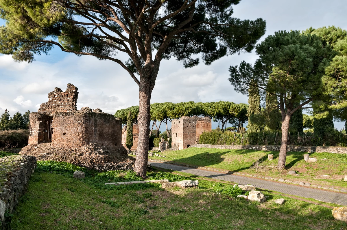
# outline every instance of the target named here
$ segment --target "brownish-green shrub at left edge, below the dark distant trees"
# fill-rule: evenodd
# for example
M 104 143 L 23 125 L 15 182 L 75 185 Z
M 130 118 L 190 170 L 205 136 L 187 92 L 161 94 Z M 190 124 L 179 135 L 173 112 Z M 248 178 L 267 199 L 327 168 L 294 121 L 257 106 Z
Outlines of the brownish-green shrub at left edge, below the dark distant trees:
M 5 130 L 0 131 L 0 148 L 10 145 L 9 148 L 23 148 L 28 145 L 28 130 Z

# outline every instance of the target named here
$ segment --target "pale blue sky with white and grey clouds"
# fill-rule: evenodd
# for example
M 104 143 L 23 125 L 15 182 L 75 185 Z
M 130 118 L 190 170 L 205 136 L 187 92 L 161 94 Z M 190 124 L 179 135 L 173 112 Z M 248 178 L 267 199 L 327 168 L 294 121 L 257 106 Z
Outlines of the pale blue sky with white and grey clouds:
M 266 34 L 278 30 L 305 30 L 335 25 L 347 29 L 346 1 L 331 0 L 242 0 L 234 6 L 234 17 L 266 20 Z M 0 25 L 4 21 L 0 20 Z M 117 54 L 126 61 L 128 57 Z M 48 101 L 48 93 L 55 87 L 66 89 L 67 83 L 78 88 L 77 108 L 88 106 L 114 114 L 118 109 L 138 105 L 138 86 L 117 63 L 99 61 L 95 57 L 62 52 L 54 48 L 50 55 L 36 56 L 33 63 L 15 62 L 11 56 L 0 55 L 0 114 L 5 109 L 13 115 L 17 111 L 36 112 Z M 151 103 L 170 101 L 232 101 L 247 103 L 247 96 L 237 93 L 228 81 L 230 65 L 245 60 L 254 63 L 257 55 L 241 53 L 223 57 L 211 65 L 202 62 L 184 69 L 175 59 L 163 60 L 160 65 Z M 214 129 L 218 124 L 213 123 Z M 337 129 L 344 123 L 335 122 Z

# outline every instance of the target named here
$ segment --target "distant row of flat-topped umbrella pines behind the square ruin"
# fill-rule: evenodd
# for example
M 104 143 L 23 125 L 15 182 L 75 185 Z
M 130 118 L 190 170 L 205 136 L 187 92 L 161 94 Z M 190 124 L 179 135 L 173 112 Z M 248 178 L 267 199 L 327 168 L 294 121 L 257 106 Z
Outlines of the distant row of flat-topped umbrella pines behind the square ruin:
M 207 116 L 213 121 L 221 124 L 221 130 L 227 128 L 227 124 L 231 124 L 238 133 L 244 132 L 242 128 L 244 123 L 248 121 L 247 117 L 248 105 L 244 103 L 235 104 L 231 101 L 218 102 L 198 102 L 194 101 L 180 103 L 153 103 L 151 104 L 151 120 L 153 121 L 150 135 L 154 133 L 159 137 L 159 129 L 162 123 L 166 125 L 166 133 L 170 136 L 171 129 L 168 129 L 168 122 L 183 116 Z M 133 124 L 137 124 L 137 116 L 139 112 L 138 106 L 132 106 L 125 109 L 119 109 L 115 113 L 115 117 L 121 120 L 122 124 L 127 124 L 127 116 L 131 112 Z M 157 125 L 159 122 L 159 125 Z M 155 127 L 155 130 L 154 130 Z

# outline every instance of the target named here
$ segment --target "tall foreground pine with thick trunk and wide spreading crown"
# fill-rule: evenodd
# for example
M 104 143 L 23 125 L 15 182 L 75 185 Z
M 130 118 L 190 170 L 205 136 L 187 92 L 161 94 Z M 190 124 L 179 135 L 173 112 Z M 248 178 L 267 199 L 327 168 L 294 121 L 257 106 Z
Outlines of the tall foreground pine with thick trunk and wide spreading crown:
M 145 178 L 150 100 L 162 59 L 185 68 L 250 52 L 265 21 L 232 17 L 240 0 L 0 0 L 0 52 L 34 61 L 53 46 L 78 56 L 109 60 L 139 87 L 139 140 L 134 170 Z M 124 55 L 117 55 L 123 53 Z M 128 56 L 128 60 L 122 57 Z

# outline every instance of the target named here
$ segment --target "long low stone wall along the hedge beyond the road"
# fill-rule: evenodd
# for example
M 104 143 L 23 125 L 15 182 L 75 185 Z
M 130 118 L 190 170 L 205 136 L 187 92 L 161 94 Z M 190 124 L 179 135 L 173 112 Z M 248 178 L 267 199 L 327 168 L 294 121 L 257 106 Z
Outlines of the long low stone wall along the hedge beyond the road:
M 189 148 L 209 148 L 209 149 L 254 149 L 264 151 L 279 151 L 280 145 L 213 145 L 213 144 L 193 144 Z M 330 153 L 347 153 L 346 147 L 330 146 L 298 146 L 288 145 L 288 152 L 330 152 Z

